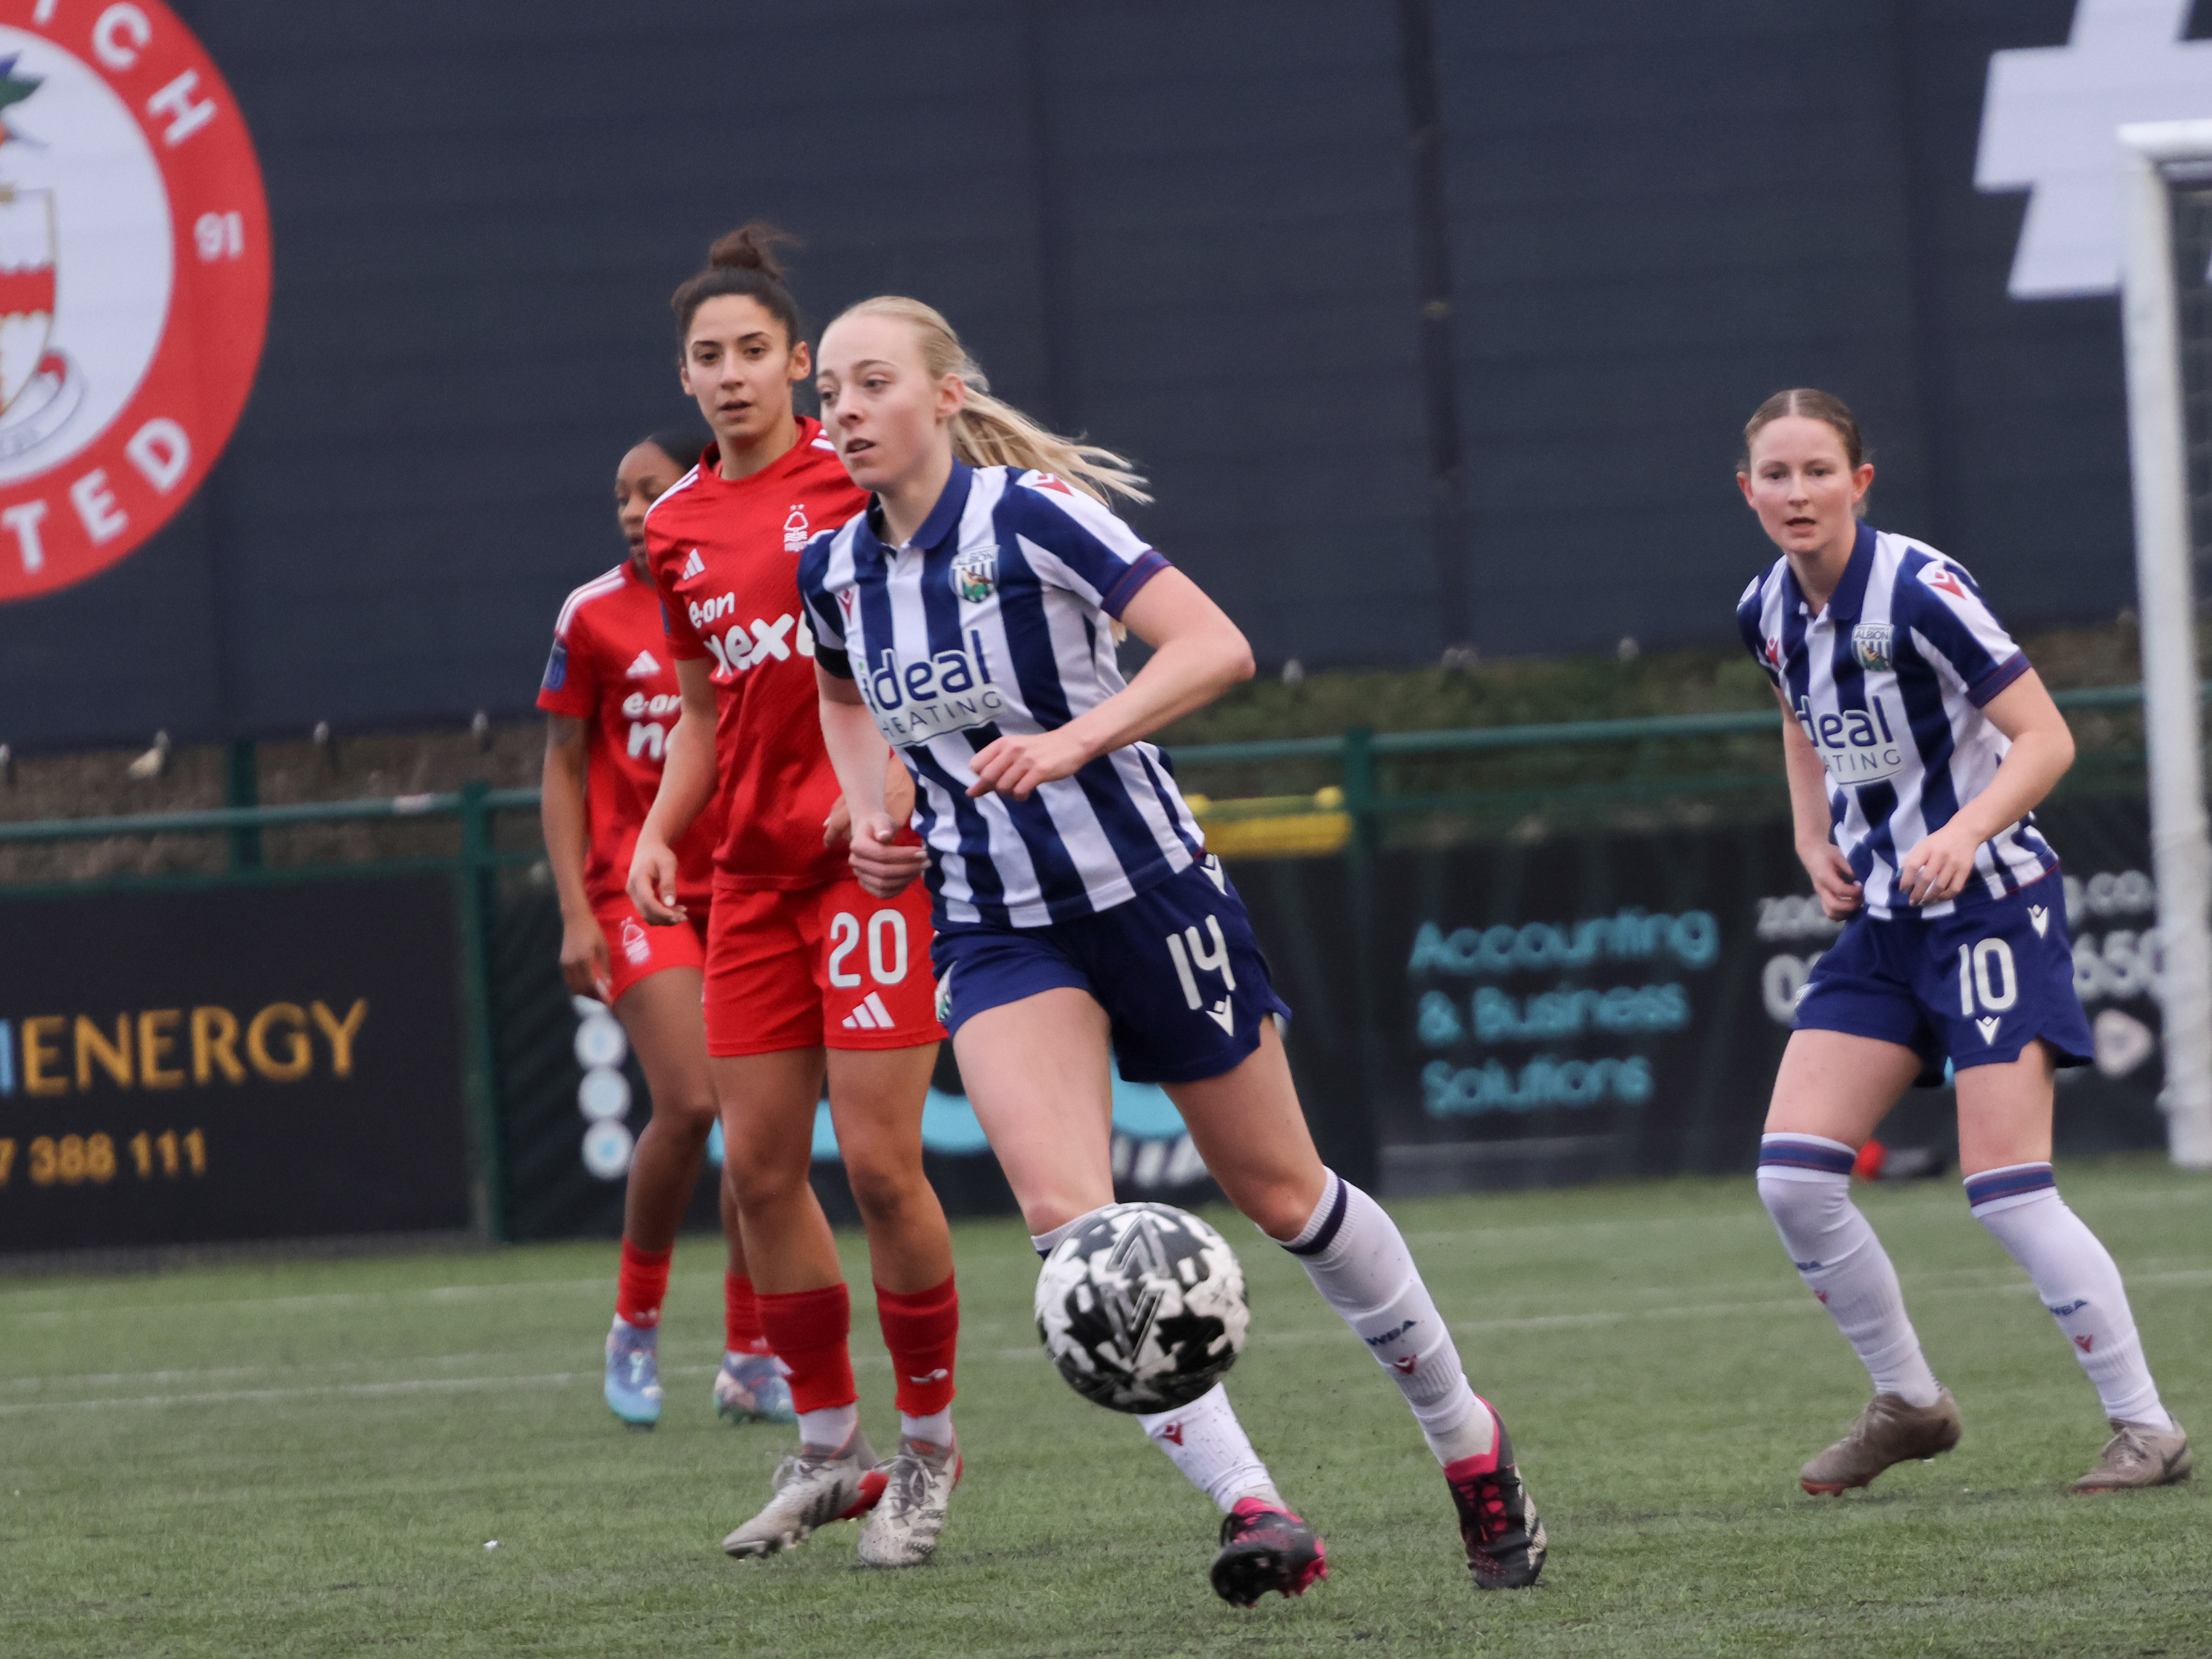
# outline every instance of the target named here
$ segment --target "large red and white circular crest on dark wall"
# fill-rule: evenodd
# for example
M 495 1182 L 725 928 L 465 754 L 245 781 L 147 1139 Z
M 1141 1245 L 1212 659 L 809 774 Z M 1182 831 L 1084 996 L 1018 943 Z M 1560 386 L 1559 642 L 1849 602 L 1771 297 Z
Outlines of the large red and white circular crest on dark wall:
M 0 0 L 0 602 L 192 498 L 268 310 L 261 166 L 199 40 L 161 0 Z

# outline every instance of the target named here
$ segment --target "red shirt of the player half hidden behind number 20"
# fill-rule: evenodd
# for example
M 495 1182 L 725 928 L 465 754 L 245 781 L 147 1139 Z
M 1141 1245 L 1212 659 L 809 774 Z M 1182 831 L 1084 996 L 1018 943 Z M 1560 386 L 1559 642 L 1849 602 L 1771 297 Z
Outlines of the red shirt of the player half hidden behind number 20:
M 628 560 L 568 595 L 553 624 L 538 708 L 588 721 L 584 737 L 584 821 L 591 849 L 584 889 L 593 907 L 622 898 L 637 832 L 661 787 L 661 752 L 684 695 L 661 633 L 661 602 Z M 699 814 L 677 843 L 677 894 L 706 902 L 714 889 L 721 805 Z

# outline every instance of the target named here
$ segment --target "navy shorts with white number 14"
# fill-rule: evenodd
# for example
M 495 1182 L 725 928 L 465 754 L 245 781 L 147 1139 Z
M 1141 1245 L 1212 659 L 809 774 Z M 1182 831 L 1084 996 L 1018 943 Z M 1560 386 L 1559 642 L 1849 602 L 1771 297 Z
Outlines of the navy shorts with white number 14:
M 1219 1077 L 1259 1048 L 1263 1020 L 1290 1018 L 1214 856 L 1073 922 L 940 920 L 929 964 L 938 1020 L 953 1035 L 984 1009 L 1060 987 L 1084 991 L 1106 1009 L 1115 1062 L 1133 1084 Z

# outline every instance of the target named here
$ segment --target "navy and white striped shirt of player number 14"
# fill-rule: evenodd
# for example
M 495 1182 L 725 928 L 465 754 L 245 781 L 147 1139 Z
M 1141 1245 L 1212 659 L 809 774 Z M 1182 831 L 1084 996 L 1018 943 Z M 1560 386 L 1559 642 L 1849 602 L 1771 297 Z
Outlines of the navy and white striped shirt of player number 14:
M 1121 690 L 1110 622 L 1168 562 L 1051 473 L 953 462 L 911 542 L 858 513 L 807 542 L 816 661 L 845 670 L 914 774 L 938 925 L 1048 927 L 1188 869 L 1206 843 L 1150 743 L 1029 801 L 971 801 L 975 754 Z

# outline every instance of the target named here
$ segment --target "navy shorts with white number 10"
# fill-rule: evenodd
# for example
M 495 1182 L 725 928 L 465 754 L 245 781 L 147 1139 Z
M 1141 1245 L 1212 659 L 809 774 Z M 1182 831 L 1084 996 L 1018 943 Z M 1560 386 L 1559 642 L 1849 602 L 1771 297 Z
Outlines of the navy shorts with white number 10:
M 1947 1057 L 1958 1068 L 2020 1060 L 2037 1037 L 2059 1066 L 2086 1066 L 2095 1044 L 2073 989 L 2066 885 L 2051 872 L 1949 916 L 1854 918 L 1812 964 L 1796 1029 L 1911 1048 L 1922 1082 Z

